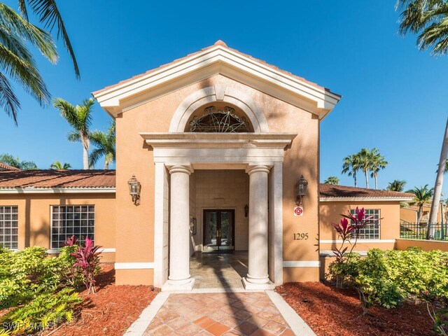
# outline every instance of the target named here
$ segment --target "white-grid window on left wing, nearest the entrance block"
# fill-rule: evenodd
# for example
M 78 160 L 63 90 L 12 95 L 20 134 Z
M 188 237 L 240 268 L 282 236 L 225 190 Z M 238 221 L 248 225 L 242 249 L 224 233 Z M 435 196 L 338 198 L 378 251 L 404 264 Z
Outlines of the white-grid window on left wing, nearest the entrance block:
M 94 205 L 53 205 L 51 207 L 51 248 L 64 246 L 67 238 L 75 236 L 78 244 L 85 237 L 94 240 Z

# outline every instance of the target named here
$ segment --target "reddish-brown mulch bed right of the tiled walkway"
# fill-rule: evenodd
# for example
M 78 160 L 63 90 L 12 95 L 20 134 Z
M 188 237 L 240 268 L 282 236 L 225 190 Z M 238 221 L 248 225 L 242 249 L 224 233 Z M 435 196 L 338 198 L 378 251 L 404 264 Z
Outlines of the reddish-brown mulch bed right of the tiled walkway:
M 433 322 L 426 304 L 395 309 L 371 307 L 363 314 L 358 294 L 320 282 L 285 283 L 276 288 L 318 336 L 430 336 Z M 360 317 L 358 317 L 360 316 Z

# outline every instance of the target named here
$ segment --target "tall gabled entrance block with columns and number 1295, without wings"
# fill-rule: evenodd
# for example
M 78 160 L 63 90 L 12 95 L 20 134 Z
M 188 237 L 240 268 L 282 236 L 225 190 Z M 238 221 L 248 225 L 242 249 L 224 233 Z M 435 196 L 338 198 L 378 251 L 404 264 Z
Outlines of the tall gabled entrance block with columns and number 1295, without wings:
M 207 216 L 235 218 L 225 244 L 248 249 L 246 288 L 318 279 L 319 123 L 338 94 L 218 41 L 93 95 L 116 118 L 118 283 L 191 288 L 190 221 L 223 243 L 223 224 L 204 229 Z M 297 217 L 300 175 L 309 185 Z M 195 249 L 209 245 L 195 236 Z

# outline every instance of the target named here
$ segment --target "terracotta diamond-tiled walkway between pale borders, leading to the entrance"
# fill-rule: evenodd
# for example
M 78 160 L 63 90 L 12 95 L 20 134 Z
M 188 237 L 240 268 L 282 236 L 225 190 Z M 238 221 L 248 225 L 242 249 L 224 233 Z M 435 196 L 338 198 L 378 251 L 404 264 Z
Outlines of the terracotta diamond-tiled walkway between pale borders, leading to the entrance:
M 294 335 L 265 292 L 172 293 L 148 335 Z

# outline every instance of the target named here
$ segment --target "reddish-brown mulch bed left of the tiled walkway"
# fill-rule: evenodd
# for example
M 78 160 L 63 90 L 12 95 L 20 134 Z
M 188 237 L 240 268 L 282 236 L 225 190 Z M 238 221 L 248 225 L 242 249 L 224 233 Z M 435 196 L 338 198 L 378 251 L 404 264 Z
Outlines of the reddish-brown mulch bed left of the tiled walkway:
M 78 318 L 53 330 L 51 336 L 122 336 L 159 292 L 153 286 L 114 283 L 115 269 L 112 265 L 103 265 L 103 272 L 97 276 L 97 293 L 80 293 L 84 301 Z

